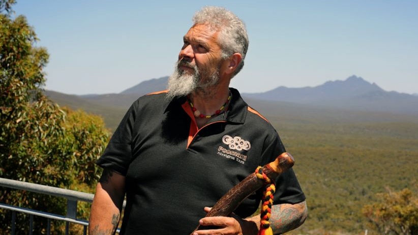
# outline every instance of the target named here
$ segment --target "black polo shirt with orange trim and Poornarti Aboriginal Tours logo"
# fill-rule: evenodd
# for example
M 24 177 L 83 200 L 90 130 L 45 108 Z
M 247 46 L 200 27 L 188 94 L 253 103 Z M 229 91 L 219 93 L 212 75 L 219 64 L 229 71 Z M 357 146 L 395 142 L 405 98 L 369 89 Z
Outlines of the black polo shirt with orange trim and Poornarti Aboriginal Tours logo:
M 121 234 L 189 234 L 205 216 L 203 207 L 285 152 L 273 126 L 230 90 L 226 112 L 200 130 L 186 98 L 168 100 L 163 91 L 133 103 L 97 161 L 126 176 Z M 275 204 L 305 200 L 292 170 L 276 188 Z M 253 214 L 261 194 L 250 195 L 235 214 Z

